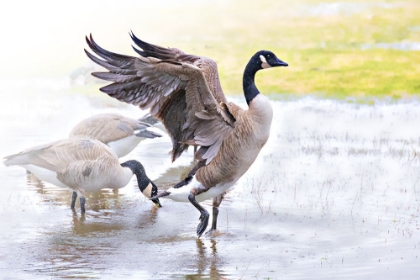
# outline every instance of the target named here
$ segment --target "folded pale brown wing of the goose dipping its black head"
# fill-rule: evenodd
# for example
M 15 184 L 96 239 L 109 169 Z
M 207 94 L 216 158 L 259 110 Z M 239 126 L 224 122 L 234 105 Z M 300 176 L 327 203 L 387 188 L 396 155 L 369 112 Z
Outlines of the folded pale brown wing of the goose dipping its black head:
M 96 140 L 64 139 L 37 146 L 5 158 L 6 165 L 33 164 L 55 172 L 65 169 L 71 162 L 107 157 L 118 162 L 115 153 Z

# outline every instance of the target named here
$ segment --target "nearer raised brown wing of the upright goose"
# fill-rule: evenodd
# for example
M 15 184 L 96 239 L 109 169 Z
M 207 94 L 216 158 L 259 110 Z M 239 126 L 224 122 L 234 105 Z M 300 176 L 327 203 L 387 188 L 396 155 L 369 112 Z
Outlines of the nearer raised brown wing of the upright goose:
M 207 164 L 217 155 L 235 118 L 225 103 L 216 100 L 204 73 L 194 65 L 196 56 L 140 44 L 140 56 L 132 57 L 101 48 L 92 36 L 86 41 L 100 58 L 85 50 L 88 57 L 109 71 L 92 75 L 113 82 L 100 90 L 120 101 L 150 109 L 171 136 L 172 160 L 188 145 L 206 147 L 202 158 Z

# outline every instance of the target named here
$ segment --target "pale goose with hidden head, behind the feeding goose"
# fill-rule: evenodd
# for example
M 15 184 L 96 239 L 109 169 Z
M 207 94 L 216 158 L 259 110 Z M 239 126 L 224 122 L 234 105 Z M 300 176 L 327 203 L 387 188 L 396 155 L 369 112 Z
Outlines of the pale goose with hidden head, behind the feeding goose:
M 154 120 L 145 116 L 144 120 L 131 119 L 120 114 L 98 114 L 82 120 L 70 132 L 69 137 L 96 139 L 115 151 L 118 157 L 129 154 L 140 141 L 162 135 L 150 130 Z

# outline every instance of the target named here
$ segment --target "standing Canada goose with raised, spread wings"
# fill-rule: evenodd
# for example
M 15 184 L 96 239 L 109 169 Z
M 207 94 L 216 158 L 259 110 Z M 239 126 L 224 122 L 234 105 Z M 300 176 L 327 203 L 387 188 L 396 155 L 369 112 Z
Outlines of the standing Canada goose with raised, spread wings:
M 258 51 L 245 67 L 243 90 L 248 110 L 227 102 L 220 86 L 217 65 L 209 58 L 162 48 L 130 34 L 141 50 L 132 57 L 109 52 L 86 37 L 97 56 L 87 56 L 109 72 L 93 76 L 114 83 L 100 90 L 120 101 L 150 108 L 162 121 L 173 144 L 172 160 L 188 145 L 201 146 L 197 165 L 187 178 L 154 197 L 191 202 L 200 212 L 197 234 L 206 230 L 209 213 L 199 202 L 213 198 L 210 233 L 216 230 L 218 207 L 232 187 L 254 162 L 270 134 L 273 110 L 270 101 L 254 83 L 258 70 L 288 66 L 271 51 Z

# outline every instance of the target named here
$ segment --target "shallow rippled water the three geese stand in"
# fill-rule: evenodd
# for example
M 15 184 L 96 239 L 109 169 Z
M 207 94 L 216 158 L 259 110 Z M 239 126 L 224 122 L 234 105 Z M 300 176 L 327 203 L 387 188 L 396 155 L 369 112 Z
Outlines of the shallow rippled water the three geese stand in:
M 2 85 L 1 157 L 64 138 L 94 113 L 143 115 L 65 81 Z M 134 178 L 119 193 L 89 194 L 82 217 L 67 190 L 1 165 L 1 278 L 418 277 L 420 104 L 305 98 L 273 106 L 270 140 L 221 204 L 215 237 L 197 239 L 194 207 L 162 199 L 156 209 Z M 192 160 L 187 153 L 171 164 L 169 150 L 163 137 L 125 159 L 139 159 L 166 188 Z

